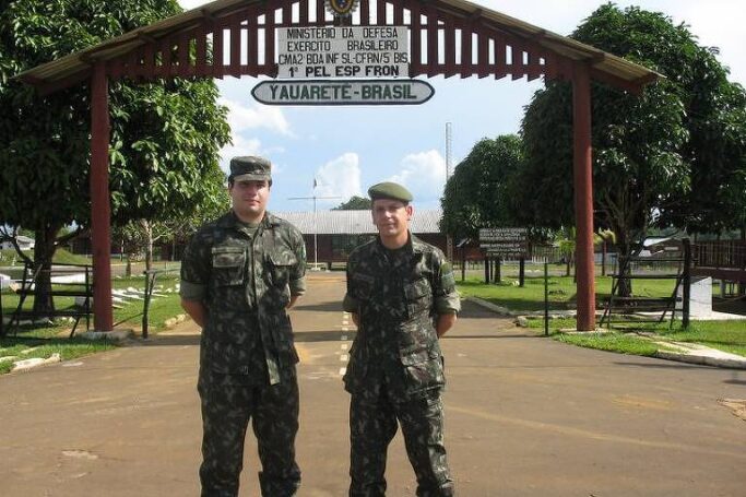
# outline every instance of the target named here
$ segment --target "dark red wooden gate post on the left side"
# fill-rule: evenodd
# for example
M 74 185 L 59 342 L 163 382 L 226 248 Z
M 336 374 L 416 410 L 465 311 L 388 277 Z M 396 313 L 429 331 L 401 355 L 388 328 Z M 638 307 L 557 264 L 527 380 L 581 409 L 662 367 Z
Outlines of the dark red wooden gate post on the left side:
M 109 205 L 109 95 L 106 66 L 91 76 L 91 232 L 93 242 L 93 324 L 111 331 L 111 206 Z

